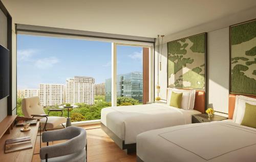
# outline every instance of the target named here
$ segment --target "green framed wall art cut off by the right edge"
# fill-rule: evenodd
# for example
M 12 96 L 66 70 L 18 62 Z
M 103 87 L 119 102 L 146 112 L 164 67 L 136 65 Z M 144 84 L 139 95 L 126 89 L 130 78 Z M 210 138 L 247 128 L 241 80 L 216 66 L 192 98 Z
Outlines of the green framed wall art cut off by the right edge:
M 256 19 L 229 27 L 230 93 L 256 95 Z

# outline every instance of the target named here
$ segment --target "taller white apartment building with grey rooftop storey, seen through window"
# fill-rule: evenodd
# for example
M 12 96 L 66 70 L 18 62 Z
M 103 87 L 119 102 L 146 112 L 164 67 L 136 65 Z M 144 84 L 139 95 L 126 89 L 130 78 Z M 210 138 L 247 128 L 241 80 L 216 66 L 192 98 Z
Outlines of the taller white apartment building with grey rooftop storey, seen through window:
M 67 78 L 66 80 L 66 103 L 94 104 L 95 79 L 92 77 Z

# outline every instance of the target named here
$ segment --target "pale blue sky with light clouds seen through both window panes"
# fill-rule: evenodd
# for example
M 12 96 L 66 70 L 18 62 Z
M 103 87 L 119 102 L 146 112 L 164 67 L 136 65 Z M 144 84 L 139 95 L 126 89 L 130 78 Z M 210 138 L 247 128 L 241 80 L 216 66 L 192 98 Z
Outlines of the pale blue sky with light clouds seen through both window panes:
M 117 74 L 142 72 L 142 48 L 117 47 Z M 74 76 L 111 78 L 111 42 L 17 35 L 17 88 L 65 84 Z

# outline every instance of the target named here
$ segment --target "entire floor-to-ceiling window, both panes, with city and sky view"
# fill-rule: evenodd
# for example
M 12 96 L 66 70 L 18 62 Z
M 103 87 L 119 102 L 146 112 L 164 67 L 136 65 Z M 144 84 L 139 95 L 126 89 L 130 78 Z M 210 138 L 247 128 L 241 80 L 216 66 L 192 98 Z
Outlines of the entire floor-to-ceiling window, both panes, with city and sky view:
M 72 122 L 100 119 L 101 109 L 114 101 L 117 106 L 142 104 L 142 47 L 115 47 L 113 100 L 112 42 L 18 34 L 17 114 L 23 115 L 22 99 L 33 96 L 46 113 L 65 103 L 78 105 L 70 111 Z

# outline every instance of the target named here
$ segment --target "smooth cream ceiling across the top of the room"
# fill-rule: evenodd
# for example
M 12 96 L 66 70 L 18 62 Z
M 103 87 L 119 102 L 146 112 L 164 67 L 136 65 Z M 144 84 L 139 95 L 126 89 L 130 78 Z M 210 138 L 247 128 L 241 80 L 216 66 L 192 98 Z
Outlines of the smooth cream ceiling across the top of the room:
M 2 0 L 13 22 L 143 37 L 172 34 L 256 6 L 255 0 Z

